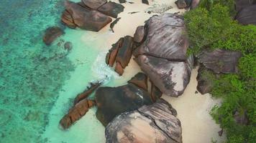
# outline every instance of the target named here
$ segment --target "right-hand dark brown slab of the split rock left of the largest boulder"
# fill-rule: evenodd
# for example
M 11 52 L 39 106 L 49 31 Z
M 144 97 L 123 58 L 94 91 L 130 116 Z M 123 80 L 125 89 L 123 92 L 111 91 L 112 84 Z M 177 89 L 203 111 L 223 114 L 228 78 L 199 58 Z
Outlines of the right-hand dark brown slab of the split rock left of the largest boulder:
M 132 43 L 132 36 L 124 36 L 122 46 L 116 55 L 116 61 L 122 65 L 123 69 L 129 64 L 129 60 L 132 57 Z

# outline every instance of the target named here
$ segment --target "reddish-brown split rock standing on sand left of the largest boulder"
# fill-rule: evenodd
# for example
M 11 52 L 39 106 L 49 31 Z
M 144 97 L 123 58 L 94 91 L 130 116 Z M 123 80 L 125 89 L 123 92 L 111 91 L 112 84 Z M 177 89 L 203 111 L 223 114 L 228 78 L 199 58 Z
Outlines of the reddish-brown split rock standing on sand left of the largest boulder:
M 116 61 L 115 71 L 119 75 L 123 74 L 125 67 L 129 64 L 132 57 L 132 46 L 132 36 L 124 36 L 116 44 L 113 44 L 109 53 L 106 54 L 106 64 L 114 66 L 114 61 Z

